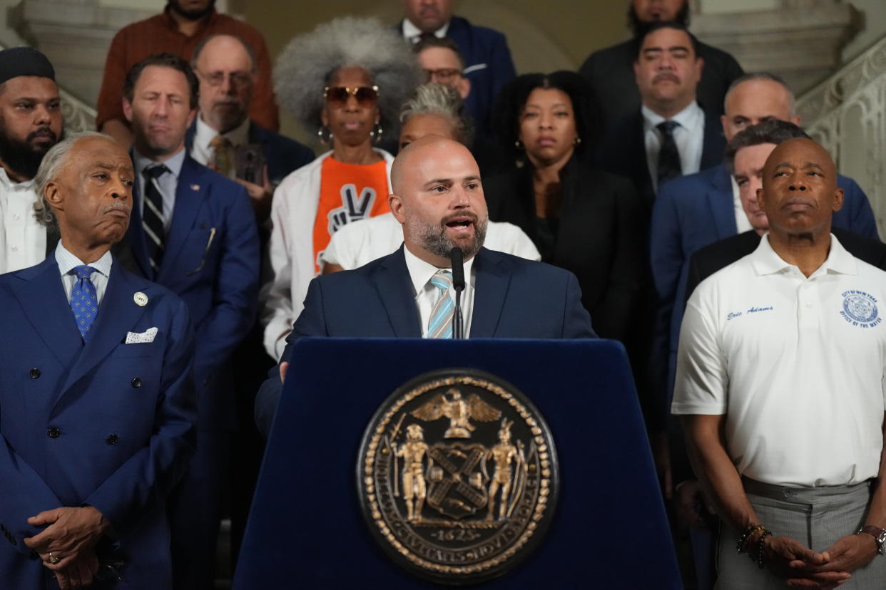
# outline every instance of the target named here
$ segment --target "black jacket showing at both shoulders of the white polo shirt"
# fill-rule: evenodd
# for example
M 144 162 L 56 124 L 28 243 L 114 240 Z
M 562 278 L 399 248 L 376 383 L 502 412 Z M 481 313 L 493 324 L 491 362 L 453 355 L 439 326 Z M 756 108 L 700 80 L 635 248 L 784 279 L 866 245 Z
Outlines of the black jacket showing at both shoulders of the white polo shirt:
M 886 244 L 882 241 L 840 227 L 831 227 L 831 234 L 834 234 L 852 256 L 886 271 Z M 698 250 L 689 258 L 686 301 L 689 301 L 689 295 L 692 295 L 699 283 L 739 258 L 748 256 L 757 249 L 759 243 L 760 236 L 750 230 L 726 240 L 715 241 L 710 246 Z

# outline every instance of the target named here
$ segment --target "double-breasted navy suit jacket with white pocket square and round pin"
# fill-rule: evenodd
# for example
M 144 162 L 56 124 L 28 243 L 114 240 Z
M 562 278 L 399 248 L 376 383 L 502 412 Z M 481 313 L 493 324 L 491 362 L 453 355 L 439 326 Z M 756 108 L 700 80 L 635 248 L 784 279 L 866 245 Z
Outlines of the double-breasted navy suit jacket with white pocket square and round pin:
M 127 580 L 113 587 L 171 587 L 165 498 L 187 468 L 197 420 L 183 301 L 114 259 L 84 345 L 51 256 L 0 276 L 0 326 L 2 586 L 48 587 L 23 540 L 39 533 L 28 517 L 89 504 L 126 563 Z M 154 341 L 124 343 L 150 328 Z

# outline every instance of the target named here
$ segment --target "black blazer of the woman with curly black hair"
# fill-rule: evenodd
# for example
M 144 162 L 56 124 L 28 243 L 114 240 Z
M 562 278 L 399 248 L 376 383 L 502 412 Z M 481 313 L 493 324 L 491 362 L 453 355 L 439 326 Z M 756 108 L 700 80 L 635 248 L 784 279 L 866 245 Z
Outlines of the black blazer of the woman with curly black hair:
M 631 183 L 572 159 L 561 173 L 563 203 L 553 254 L 544 262 L 579 278 L 581 303 L 602 338 L 633 340 L 646 285 L 646 225 Z M 484 181 L 489 218 L 519 226 L 539 244 L 532 165 Z

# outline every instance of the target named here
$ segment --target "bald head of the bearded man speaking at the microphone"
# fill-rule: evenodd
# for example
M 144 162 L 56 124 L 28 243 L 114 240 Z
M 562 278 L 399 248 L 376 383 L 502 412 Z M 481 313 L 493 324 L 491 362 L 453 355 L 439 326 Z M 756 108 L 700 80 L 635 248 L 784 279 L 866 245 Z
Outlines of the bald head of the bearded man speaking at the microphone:
M 465 259 L 486 237 L 486 199 L 480 171 L 461 143 L 428 135 L 400 151 L 391 168 L 393 216 L 407 249 L 429 264 L 449 265 L 457 247 Z

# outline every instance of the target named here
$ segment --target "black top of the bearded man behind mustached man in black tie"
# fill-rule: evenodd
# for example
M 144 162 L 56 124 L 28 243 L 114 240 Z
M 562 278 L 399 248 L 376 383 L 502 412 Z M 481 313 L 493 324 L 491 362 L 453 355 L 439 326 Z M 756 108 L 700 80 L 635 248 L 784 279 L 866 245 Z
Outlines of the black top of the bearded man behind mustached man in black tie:
M 632 39 L 595 51 L 579 69 L 594 88 L 606 129 L 640 110 L 640 90 L 633 76 L 637 42 Z M 697 89 L 698 103 L 705 111 L 722 115 L 727 89 L 742 75 L 742 66 L 726 51 L 702 42 L 698 43 L 698 56 L 704 60 L 702 80 Z

